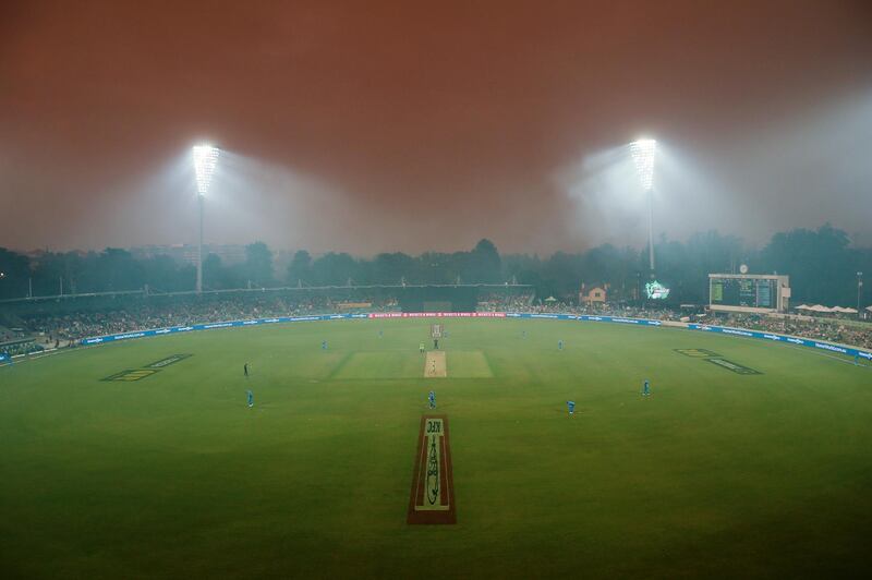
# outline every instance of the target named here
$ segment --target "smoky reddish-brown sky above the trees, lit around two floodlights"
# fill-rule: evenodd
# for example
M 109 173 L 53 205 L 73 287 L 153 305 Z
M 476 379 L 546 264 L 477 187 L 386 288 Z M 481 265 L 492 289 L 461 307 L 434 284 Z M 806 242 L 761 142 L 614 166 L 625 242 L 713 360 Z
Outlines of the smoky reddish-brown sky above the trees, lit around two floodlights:
M 0 246 L 872 243 L 872 3 L 0 2 Z M 658 161 L 659 162 L 659 161 Z M 661 170 L 662 167 L 662 170 Z

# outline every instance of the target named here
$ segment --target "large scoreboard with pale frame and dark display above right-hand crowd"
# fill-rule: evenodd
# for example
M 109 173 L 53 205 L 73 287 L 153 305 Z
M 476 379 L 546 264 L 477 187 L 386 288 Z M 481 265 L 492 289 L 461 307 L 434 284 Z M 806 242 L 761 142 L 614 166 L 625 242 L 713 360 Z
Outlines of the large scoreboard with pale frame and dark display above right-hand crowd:
M 787 312 L 790 277 L 765 274 L 710 274 L 708 307 L 719 312 Z

